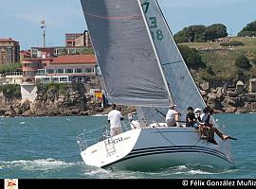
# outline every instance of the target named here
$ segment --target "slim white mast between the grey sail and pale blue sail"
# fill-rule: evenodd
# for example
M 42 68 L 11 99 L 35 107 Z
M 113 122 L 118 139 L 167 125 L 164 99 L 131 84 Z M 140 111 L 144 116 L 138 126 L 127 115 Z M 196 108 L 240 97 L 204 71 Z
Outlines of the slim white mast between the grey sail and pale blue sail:
M 152 46 L 153 46 L 153 49 L 154 49 L 154 52 L 155 52 L 155 58 L 156 58 L 156 60 L 157 60 L 158 67 L 159 67 L 159 69 L 160 69 L 160 73 L 161 73 L 161 75 L 162 75 L 162 77 L 163 77 L 164 84 L 165 84 L 166 90 L 167 90 L 168 95 L 169 95 L 170 103 L 174 104 L 174 100 L 173 100 L 173 97 L 172 97 L 172 93 L 171 93 L 170 87 L 169 87 L 169 85 L 168 85 L 167 78 L 165 77 L 165 74 L 164 74 L 164 71 L 163 71 L 161 62 L 160 62 L 160 60 L 159 60 L 158 54 L 157 54 L 157 52 L 156 52 L 155 43 L 153 42 L 152 35 L 151 35 L 151 31 L 150 31 L 150 29 L 149 29 L 149 25 L 148 25 L 147 19 L 146 19 L 145 14 L 144 14 L 144 10 L 143 10 L 142 7 L 141 7 L 140 0 L 137 0 L 137 3 L 138 3 L 138 5 L 139 5 L 139 9 L 140 9 L 140 11 L 141 11 L 141 15 L 142 15 L 142 17 L 143 17 L 143 21 L 144 21 L 144 23 L 145 23 L 145 25 L 146 25 L 146 28 L 147 28 L 148 35 L 149 35 L 149 38 L 150 38 L 150 42 L 151 42 L 151 44 L 152 44 Z

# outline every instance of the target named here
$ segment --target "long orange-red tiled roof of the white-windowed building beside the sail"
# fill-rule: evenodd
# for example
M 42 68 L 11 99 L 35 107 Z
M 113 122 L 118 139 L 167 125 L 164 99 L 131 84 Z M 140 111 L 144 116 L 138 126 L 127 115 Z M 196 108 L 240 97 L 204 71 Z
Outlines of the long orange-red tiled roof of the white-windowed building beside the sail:
M 50 64 L 96 63 L 94 55 L 66 55 L 53 58 Z

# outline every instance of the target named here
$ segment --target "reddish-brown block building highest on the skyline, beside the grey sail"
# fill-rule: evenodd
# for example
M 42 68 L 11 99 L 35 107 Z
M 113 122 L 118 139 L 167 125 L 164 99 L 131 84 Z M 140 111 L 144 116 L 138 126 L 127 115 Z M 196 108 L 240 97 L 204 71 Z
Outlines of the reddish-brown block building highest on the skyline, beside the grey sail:
M 68 33 L 65 34 L 65 46 L 84 46 L 92 47 L 91 37 L 87 30 L 83 33 Z

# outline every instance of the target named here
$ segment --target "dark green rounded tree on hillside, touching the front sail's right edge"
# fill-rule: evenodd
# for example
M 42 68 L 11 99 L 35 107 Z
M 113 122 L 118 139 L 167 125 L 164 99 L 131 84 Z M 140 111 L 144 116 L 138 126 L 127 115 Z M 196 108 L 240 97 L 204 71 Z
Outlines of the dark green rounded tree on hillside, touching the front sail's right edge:
M 186 45 L 178 45 L 178 48 L 183 59 L 190 68 L 199 69 L 206 67 L 205 62 L 202 60 L 202 57 L 198 54 L 196 49 Z

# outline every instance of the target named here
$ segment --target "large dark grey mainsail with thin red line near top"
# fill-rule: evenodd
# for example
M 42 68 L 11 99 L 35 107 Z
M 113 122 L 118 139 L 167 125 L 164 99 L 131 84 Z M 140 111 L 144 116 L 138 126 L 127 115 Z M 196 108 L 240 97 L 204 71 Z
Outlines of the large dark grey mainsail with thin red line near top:
M 81 0 L 108 99 L 119 105 L 173 103 L 137 0 Z

